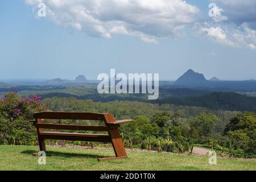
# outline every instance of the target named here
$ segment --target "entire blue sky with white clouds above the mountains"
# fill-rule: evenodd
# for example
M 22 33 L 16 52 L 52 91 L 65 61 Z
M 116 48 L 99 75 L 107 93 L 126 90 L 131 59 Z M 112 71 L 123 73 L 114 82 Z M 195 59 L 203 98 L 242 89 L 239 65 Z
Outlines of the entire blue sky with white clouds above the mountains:
M 256 78 L 255 36 L 256 0 L 1 0 L 0 80 L 96 79 L 110 68 L 246 80 Z

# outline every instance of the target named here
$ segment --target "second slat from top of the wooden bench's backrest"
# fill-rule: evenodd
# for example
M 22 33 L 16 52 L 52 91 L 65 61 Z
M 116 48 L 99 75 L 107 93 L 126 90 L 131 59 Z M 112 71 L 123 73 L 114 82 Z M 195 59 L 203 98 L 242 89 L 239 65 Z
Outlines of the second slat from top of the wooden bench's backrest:
M 62 125 L 62 124 L 48 124 L 35 123 L 36 128 L 41 129 L 56 129 L 56 130 L 87 130 L 87 131 L 109 131 L 108 126 L 86 126 L 86 125 Z

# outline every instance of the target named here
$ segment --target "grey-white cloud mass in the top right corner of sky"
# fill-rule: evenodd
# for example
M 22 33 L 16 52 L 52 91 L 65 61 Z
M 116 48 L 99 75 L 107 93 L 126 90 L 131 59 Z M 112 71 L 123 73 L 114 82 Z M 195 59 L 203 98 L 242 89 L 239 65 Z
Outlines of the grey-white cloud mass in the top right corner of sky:
M 199 35 L 232 47 L 255 50 L 256 0 L 211 0 L 209 16 L 212 20 L 196 23 Z M 219 7 L 224 7 L 224 10 Z M 225 22 L 223 22 L 225 20 Z

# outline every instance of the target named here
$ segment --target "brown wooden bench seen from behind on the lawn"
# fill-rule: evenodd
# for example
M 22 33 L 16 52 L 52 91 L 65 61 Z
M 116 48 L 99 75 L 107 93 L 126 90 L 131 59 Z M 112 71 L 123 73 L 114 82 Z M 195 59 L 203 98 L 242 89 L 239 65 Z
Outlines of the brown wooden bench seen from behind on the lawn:
M 127 158 L 125 147 L 118 127 L 122 123 L 131 122 L 131 119 L 115 121 L 112 114 L 89 113 L 89 112 L 41 112 L 34 114 L 34 125 L 38 133 L 40 151 L 46 151 L 45 139 L 59 140 L 80 140 L 92 142 L 111 142 L 114 148 L 115 157 L 101 158 L 99 161 L 108 159 Z M 62 125 L 43 123 L 43 119 L 76 119 L 76 120 L 97 120 L 104 121 L 105 126 L 94 125 Z M 64 133 L 44 131 L 43 129 L 55 130 L 87 130 L 87 131 L 108 131 L 108 134 L 85 134 L 85 133 Z

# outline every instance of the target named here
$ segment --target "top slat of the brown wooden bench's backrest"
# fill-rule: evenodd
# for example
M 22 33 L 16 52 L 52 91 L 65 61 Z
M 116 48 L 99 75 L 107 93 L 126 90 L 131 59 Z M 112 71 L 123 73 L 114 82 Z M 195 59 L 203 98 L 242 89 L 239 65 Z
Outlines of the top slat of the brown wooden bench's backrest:
M 34 118 L 40 119 L 84 119 L 105 121 L 104 114 L 89 112 L 42 112 L 35 113 Z

